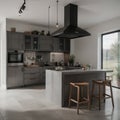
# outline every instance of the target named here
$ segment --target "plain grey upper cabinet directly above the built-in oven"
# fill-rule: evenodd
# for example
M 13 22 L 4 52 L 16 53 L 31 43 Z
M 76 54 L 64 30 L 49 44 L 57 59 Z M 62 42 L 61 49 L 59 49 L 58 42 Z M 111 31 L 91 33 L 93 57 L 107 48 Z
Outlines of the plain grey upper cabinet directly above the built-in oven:
M 24 34 L 7 31 L 8 50 L 24 50 Z

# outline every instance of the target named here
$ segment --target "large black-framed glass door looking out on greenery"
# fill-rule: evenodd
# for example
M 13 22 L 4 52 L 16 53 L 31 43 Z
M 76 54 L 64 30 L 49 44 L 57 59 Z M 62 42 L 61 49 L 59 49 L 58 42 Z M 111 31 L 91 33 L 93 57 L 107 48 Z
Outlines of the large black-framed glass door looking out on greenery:
M 120 80 L 120 30 L 102 34 L 101 43 L 101 67 L 113 69 L 113 79 Z

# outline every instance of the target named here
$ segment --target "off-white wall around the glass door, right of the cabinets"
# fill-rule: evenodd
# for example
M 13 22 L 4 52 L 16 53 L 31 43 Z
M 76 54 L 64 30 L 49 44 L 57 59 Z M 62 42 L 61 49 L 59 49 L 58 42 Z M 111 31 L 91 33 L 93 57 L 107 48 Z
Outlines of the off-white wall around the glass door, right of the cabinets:
M 71 43 L 71 53 L 76 56 L 76 61 L 81 64 L 92 64 L 93 68 L 100 68 L 100 40 L 101 34 L 120 29 L 120 17 L 105 21 L 87 29 L 91 33 L 89 37 L 77 38 Z

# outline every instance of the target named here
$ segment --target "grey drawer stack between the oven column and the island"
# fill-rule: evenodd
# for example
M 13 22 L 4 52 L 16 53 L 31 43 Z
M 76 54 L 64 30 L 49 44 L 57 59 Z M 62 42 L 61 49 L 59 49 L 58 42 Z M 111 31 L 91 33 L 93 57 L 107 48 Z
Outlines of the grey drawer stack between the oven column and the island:
M 24 85 L 42 84 L 41 72 L 39 67 L 24 68 Z

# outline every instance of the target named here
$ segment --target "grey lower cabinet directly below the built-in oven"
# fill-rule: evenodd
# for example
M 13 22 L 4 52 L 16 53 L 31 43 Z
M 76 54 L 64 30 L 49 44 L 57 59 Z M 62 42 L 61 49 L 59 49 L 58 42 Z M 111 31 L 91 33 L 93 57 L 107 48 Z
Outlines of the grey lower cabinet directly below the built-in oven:
M 23 86 L 23 66 L 8 66 L 7 88 Z

